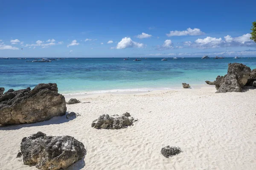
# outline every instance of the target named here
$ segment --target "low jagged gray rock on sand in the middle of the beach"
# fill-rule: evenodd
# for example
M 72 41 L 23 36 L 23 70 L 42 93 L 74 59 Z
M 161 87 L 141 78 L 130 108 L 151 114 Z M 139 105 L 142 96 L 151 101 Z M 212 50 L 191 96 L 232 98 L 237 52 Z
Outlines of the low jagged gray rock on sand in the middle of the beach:
M 122 129 L 128 126 L 133 125 L 137 119 L 131 117 L 130 113 L 126 112 L 121 116 L 113 115 L 109 116 L 108 114 L 99 116 L 98 119 L 94 120 L 92 127 L 97 129 Z

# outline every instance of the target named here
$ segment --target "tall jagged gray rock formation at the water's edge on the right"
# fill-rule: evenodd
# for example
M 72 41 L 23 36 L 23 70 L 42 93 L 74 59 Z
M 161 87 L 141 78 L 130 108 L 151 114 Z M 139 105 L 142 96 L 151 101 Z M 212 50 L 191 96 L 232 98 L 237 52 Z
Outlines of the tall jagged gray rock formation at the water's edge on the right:
M 250 75 L 250 68 L 241 63 L 228 64 L 227 74 L 218 76 L 214 82 L 205 81 L 208 85 L 215 85 L 216 93 L 241 92 Z

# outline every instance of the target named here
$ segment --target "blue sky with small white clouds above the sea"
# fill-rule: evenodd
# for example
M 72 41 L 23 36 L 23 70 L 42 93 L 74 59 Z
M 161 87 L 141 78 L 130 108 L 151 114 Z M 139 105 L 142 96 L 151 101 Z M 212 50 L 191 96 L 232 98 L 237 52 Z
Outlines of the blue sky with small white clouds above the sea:
M 0 57 L 256 56 L 254 3 L 1 1 Z

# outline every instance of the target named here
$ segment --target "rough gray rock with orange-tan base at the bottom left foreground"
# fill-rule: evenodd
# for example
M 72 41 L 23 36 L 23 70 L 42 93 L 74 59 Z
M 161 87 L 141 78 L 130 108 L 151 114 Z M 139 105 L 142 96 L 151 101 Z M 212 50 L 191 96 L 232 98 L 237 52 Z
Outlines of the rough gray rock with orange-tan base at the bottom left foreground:
M 40 170 L 69 167 L 86 155 L 84 144 L 72 136 L 46 136 L 38 132 L 24 137 L 20 144 L 23 163 Z

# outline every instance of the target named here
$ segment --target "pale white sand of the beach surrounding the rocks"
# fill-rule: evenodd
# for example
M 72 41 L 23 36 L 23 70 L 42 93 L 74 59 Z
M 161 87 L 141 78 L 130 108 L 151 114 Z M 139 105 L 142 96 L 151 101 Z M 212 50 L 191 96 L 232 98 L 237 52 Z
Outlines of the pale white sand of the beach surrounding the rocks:
M 256 90 L 214 92 L 208 86 L 76 96 L 81 103 L 67 105 L 68 112 L 81 114 L 76 119 L 61 116 L 0 126 L 0 170 L 37 169 L 24 165 L 16 155 L 21 139 L 38 131 L 74 136 L 85 145 L 87 155 L 69 170 L 255 170 Z M 121 130 L 91 127 L 99 115 L 125 112 L 139 119 L 134 126 Z M 160 150 L 167 145 L 178 146 L 183 153 L 165 158 Z

